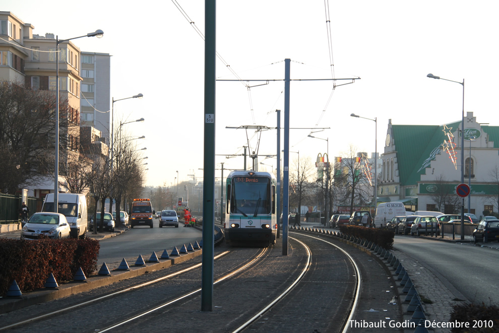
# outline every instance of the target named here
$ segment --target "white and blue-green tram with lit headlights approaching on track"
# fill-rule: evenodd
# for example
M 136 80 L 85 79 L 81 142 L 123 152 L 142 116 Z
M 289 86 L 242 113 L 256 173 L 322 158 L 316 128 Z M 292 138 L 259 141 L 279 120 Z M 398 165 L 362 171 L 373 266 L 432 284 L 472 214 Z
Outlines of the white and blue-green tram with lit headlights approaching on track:
M 275 244 L 276 179 L 268 172 L 232 171 L 226 183 L 224 235 L 227 244 Z

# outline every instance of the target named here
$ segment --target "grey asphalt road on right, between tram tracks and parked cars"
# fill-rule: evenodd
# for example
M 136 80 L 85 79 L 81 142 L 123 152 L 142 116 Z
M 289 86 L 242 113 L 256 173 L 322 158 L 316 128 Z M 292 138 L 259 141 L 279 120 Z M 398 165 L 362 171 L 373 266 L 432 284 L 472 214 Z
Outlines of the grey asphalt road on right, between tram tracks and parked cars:
M 497 249 L 408 236 L 395 236 L 394 248 L 450 283 L 469 301 L 490 304 L 499 299 Z

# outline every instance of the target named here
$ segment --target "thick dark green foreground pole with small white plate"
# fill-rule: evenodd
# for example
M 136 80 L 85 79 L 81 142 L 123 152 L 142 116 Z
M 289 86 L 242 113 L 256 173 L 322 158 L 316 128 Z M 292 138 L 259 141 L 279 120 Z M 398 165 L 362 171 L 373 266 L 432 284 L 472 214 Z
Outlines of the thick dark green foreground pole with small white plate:
M 213 255 L 215 235 L 215 45 L 216 0 L 205 0 L 205 113 L 203 170 L 203 256 L 201 311 L 213 307 Z

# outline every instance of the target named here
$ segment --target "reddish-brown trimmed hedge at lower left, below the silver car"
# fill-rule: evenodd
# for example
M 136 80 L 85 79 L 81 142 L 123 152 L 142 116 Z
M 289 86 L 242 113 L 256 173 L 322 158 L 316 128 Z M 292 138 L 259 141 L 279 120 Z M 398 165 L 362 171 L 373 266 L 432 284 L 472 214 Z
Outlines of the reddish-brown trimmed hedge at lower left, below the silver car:
M 97 269 L 99 249 L 99 242 L 90 238 L 0 239 L 0 295 L 14 280 L 21 292 L 29 292 L 43 288 L 50 273 L 57 282 L 73 280 L 79 267 L 89 276 Z

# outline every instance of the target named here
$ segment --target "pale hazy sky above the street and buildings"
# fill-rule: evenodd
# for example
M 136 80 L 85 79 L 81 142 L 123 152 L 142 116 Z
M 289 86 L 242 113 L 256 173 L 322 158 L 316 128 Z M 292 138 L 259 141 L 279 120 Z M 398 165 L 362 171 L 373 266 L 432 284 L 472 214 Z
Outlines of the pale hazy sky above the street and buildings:
M 114 118 L 145 118 L 123 129 L 127 135 L 146 136 L 137 140 L 138 149 L 147 147 L 146 184 L 173 185 L 177 170 L 180 183 L 192 174 L 202 180 L 204 42 L 173 2 L 2 4 L 0 10 L 31 23 L 39 35 L 49 32 L 65 39 L 103 30 L 101 39 L 74 43 L 85 51 L 112 55 L 112 97 L 144 94 L 141 100 L 116 102 Z M 177 4 L 204 33 L 204 2 Z M 292 81 L 290 127 L 330 128 L 313 135 L 329 138 L 332 159 L 350 145 L 373 152 L 375 123 L 350 114 L 377 118 L 378 151 L 383 153 L 389 119 L 398 125 L 442 125 L 461 119 L 462 86 L 429 79 L 428 73 L 465 79 L 465 112 L 473 112 L 479 123 L 498 125 L 498 7 L 490 0 L 329 1 L 334 77 L 360 80 L 337 87 L 329 103 L 332 81 Z M 292 61 L 293 80 L 332 78 L 325 8 L 318 0 L 219 0 L 217 51 L 242 79 L 282 80 L 286 58 Z M 236 79 L 221 61 L 217 77 Z M 216 153 L 240 154 L 247 145 L 244 130 L 227 126 L 275 127 L 274 111 L 284 110 L 283 90 L 283 81 L 269 82 L 252 87 L 250 98 L 246 82 L 217 82 Z M 290 150 L 315 160 L 326 152 L 326 141 L 308 138 L 310 131 L 291 130 Z M 247 137 L 255 149 L 254 133 L 248 131 Z M 266 131 L 259 154 L 275 153 L 276 131 Z M 290 153 L 290 161 L 296 157 Z M 216 162 L 224 162 L 226 169 L 243 167 L 242 157 L 217 156 Z M 275 169 L 275 159 L 264 163 Z

